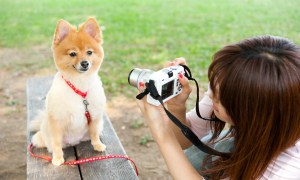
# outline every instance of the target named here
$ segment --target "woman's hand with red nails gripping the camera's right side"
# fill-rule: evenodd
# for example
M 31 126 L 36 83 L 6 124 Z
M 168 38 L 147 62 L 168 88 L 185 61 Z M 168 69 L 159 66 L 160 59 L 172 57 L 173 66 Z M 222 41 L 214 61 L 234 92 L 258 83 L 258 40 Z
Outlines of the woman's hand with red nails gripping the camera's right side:
M 179 64 L 187 65 L 186 60 L 183 57 L 180 57 L 166 62 L 165 67 L 178 66 Z M 178 96 L 166 102 L 169 109 L 183 108 L 183 106 L 185 107 L 185 102 L 192 92 L 192 88 L 189 85 L 188 79 L 183 74 L 179 75 L 179 82 L 182 85 L 182 92 Z

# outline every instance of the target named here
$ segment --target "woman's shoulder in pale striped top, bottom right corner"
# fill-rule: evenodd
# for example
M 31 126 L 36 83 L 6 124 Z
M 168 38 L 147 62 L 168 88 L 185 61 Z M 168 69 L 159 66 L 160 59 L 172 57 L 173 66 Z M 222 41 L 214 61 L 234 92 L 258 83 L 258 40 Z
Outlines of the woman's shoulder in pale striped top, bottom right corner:
M 272 161 L 262 179 L 300 178 L 300 140 Z

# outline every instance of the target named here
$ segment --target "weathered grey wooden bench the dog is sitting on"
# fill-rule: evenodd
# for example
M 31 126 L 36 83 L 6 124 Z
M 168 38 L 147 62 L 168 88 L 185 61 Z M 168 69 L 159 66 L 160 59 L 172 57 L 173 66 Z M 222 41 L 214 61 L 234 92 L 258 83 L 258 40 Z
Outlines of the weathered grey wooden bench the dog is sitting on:
M 53 77 L 32 78 L 27 81 L 27 127 L 39 110 L 45 106 L 46 94 Z M 27 128 L 27 145 L 34 133 Z M 82 142 L 75 147 L 64 149 L 65 161 L 104 155 L 126 155 L 125 150 L 109 120 L 104 115 L 104 128 L 101 140 L 107 149 L 103 153 L 93 150 L 90 141 Z M 34 148 L 38 155 L 50 156 L 46 148 Z M 103 179 L 103 180 L 134 180 L 138 179 L 131 162 L 126 159 L 107 159 L 80 165 L 61 165 L 56 167 L 43 159 L 31 157 L 27 152 L 27 179 Z

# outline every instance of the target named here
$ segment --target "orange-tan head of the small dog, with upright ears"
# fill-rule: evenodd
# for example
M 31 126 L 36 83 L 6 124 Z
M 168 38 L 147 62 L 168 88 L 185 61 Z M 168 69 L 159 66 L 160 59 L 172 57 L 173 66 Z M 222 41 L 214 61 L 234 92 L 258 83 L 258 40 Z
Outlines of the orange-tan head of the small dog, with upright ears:
M 75 74 L 97 72 L 104 57 L 102 32 L 94 18 L 76 27 L 59 20 L 54 33 L 52 50 L 59 71 Z

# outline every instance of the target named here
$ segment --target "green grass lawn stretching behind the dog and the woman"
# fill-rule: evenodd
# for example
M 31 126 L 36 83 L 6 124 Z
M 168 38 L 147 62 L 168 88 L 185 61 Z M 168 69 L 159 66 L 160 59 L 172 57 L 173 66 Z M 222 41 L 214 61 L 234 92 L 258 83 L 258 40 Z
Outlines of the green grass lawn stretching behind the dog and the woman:
M 158 70 L 183 56 L 205 83 L 213 53 L 228 43 L 272 34 L 300 44 L 299 7 L 299 0 L 1 0 L 0 47 L 50 48 L 58 19 L 79 24 L 94 16 L 105 27 L 105 88 L 132 94 L 134 67 Z

